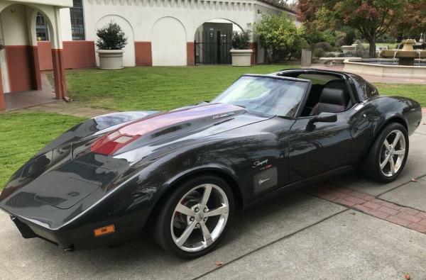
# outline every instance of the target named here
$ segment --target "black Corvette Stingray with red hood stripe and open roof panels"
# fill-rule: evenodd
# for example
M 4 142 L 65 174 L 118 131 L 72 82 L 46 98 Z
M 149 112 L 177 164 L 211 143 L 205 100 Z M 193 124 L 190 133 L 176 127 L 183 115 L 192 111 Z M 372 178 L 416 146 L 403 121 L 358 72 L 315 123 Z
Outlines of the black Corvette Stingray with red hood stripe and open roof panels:
M 246 74 L 210 102 L 71 128 L 13 174 L 0 208 L 24 238 L 63 250 L 146 229 L 164 250 L 200 257 L 235 211 L 265 198 L 349 169 L 395 180 L 421 118 L 416 101 L 354 74 Z

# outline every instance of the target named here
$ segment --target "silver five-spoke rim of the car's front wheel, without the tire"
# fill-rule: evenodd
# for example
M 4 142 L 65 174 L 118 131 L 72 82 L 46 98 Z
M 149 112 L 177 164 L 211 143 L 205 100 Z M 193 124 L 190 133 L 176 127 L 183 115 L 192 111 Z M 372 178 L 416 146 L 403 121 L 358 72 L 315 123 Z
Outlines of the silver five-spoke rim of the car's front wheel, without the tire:
M 209 247 L 222 234 L 228 214 L 229 201 L 219 186 L 196 186 L 173 211 L 170 230 L 175 245 L 187 252 Z

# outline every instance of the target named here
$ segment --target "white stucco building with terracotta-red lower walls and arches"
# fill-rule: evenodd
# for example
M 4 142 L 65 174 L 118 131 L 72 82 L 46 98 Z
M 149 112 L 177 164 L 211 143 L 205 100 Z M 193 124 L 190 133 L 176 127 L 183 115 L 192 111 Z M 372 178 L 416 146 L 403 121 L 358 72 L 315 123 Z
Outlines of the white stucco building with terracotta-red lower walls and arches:
M 40 89 L 43 70 L 53 70 L 63 98 L 64 69 L 96 67 L 96 30 L 109 21 L 128 36 L 124 66 L 177 66 L 228 63 L 229 31 L 252 30 L 265 13 L 295 18 L 270 0 L 0 0 L 0 108 L 3 93 Z M 252 63 L 263 62 L 252 41 Z M 219 58 L 205 59 L 206 44 L 219 46 Z

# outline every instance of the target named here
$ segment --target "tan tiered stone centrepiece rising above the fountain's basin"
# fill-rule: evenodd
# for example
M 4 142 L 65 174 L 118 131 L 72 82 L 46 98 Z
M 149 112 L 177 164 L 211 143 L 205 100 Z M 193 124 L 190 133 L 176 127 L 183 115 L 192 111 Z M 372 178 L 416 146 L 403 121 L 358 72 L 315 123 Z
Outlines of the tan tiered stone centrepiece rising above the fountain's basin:
M 414 50 L 415 40 L 403 40 L 403 49 L 382 50 L 381 57 L 398 58 L 398 65 L 414 66 L 414 60 L 426 57 L 426 50 Z

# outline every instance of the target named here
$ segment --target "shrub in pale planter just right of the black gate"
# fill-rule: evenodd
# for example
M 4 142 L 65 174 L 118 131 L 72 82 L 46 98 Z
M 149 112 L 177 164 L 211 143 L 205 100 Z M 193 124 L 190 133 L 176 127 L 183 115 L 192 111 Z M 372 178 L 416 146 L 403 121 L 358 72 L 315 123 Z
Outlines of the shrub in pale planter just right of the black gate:
M 232 66 L 251 66 L 249 31 L 236 32 L 232 34 Z

